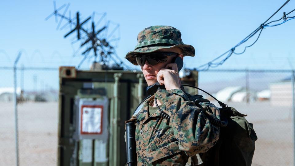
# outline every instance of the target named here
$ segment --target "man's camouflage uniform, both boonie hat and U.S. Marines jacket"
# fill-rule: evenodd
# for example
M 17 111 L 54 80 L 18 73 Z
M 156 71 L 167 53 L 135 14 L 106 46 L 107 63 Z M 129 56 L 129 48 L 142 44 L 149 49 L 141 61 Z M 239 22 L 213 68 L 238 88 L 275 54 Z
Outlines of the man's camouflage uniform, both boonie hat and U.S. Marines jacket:
M 181 48 L 184 56 L 195 54 L 191 45 L 183 44 L 179 30 L 171 26 L 148 27 L 140 32 L 136 49 L 127 53 L 126 59 L 137 65 L 135 54 L 172 47 Z M 203 111 L 220 119 L 218 108 L 209 103 L 197 107 L 188 96 L 184 89 L 160 89 L 132 116 L 130 121 L 136 124 L 138 165 L 184 165 L 188 156 L 206 152 L 216 143 L 219 127 L 212 125 Z M 161 118 L 159 110 L 149 115 L 148 104 L 155 97 L 161 110 L 171 117 L 170 121 Z

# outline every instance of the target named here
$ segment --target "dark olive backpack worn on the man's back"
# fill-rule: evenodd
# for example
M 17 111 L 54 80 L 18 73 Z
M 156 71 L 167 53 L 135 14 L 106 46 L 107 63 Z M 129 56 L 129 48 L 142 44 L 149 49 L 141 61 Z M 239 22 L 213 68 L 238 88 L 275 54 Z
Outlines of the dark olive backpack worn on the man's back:
M 194 100 L 206 104 L 207 99 L 194 95 Z M 191 99 L 191 97 L 190 97 Z M 210 103 L 211 104 L 211 103 Z M 216 144 L 205 153 L 199 153 L 201 166 L 250 166 L 255 150 L 257 135 L 253 124 L 246 116 L 233 107 L 219 108 L 221 118 L 226 118 L 226 127 L 220 127 L 220 136 Z

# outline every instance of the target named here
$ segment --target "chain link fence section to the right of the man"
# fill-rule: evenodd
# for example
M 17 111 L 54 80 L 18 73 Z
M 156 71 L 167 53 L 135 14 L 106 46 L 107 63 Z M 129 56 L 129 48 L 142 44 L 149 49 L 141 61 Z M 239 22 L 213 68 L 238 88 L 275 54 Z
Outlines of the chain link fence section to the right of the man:
M 199 72 L 199 88 L 247 114 L 253 123 L 258 136 L 254 166 L 294 165 L 292 77 L 293 71 L 279 70 Z

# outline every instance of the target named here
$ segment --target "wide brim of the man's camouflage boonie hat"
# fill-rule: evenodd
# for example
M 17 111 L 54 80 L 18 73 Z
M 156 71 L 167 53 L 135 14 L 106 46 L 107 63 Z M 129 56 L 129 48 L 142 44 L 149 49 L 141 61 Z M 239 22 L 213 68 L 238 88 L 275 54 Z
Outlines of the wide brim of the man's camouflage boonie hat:
M 133 65 L 138 65 L 136 62 L 136 57 L 135 55 L 140 54 L 140 53 L 152 53 L 159 51 L 161 49 L 168 49 L 168 48 L 180 48 L 183 50 L 182 54 L 183 56 L 195 56 L 195 48 L 192 45 L 187 45 L 187 44 L 176 44 L 172 46 L 151 46 L 151 47 L 143 47 L 143 48 L 138 48 L 133 51 L 130 51 L 126 54 L 125 58 L 130 61 Z

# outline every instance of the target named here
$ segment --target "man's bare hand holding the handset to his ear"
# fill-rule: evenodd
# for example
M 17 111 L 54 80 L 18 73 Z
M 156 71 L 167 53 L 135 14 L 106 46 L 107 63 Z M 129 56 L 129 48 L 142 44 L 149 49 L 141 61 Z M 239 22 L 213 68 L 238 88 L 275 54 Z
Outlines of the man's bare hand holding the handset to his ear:
M 160 69 L 157 80 L 161 85 L 165 85 L 166 90 L 180 89 L 176 63 L 169 63 L 165 68 Z

